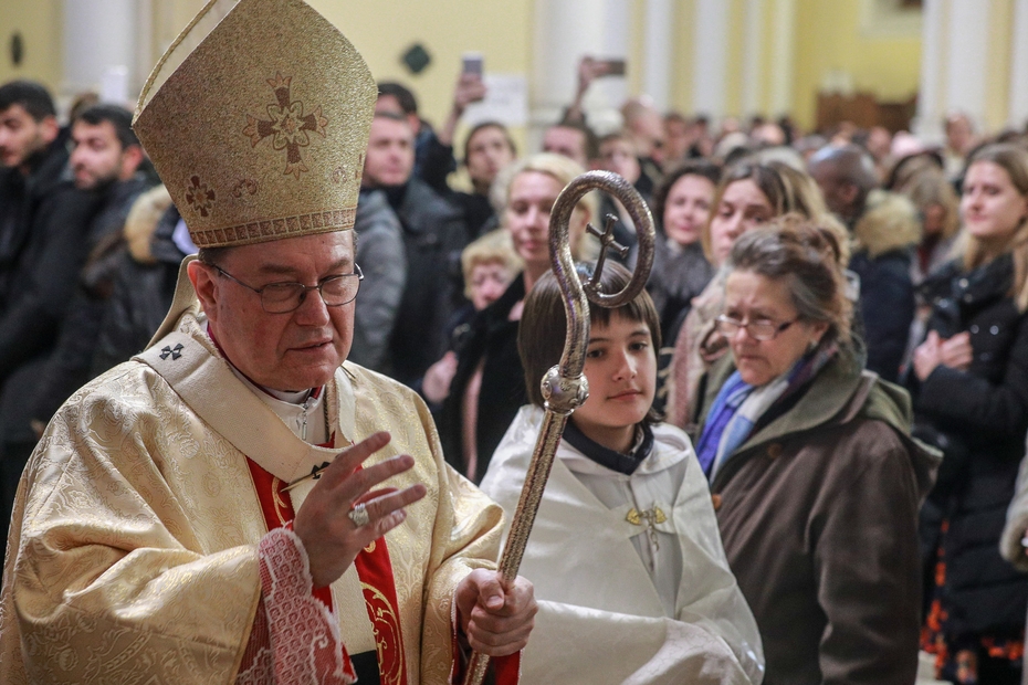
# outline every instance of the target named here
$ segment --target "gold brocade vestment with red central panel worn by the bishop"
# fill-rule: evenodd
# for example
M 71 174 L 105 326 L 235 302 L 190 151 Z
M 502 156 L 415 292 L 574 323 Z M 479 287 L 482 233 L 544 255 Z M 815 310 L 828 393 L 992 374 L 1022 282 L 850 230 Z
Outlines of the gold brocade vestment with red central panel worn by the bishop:
M 284 683 L 290 660 L 333 644 L 338 653 L 340 640 L 350 654 L 378 651 L 384 684 L 448 682 L 453 592 L 470 570 L 492 567 L 500 508 L 445 465 L 410 390 L 344 365 L 324 398 L 337 449 L 315 447 L 235 377 L 204 328 L 193 302 L 175 330 L 82 388 L 48 428 L 9 537 L 0 682 L 232 683 L 249 664 L 241 682 L 274 671 Z M 352 567 L 332 586 L 331 614 L 296 613 L 296 601 L 317 605 L 303 548 L 275 537 L 292 536 L 285 528 L 269 533 L 254 474 L 290 482 L 380 430 L 392 441 L 366 463 L 411 454 L 415 467 L 388 484 L 428 488 L 377 541 L 388 547 L 395 605 Z M 282 504 L 298 508 L 310 483 L 276 491 L 292 498 Z M 301 600 L 276 603 L 290 583 Z M 369 607 L 376 594 L 374 611 L 361 592 Z M 270 631 L 281 646 L 323 616 L 338 624 L 298 656 L 249 653 L 252 633 Z M 388 644 L 402 646 L 384 653 Z M 342 675 L 316 682 L 349 682 Z

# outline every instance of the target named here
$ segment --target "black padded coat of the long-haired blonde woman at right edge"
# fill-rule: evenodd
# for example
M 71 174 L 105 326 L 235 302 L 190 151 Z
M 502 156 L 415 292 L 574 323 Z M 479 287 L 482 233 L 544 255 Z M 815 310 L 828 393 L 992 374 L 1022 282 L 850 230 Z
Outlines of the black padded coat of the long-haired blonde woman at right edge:
M 920 384 L 915 409 L 945 438 L 946 460 L 924 513 L 933 545 L 941 519 L 946 562 L 947 632 L 1017 630 L 1028 607 L 1028 578 L 999 556 L 1007 506 L 1028 432 L 1028 315 L 1009 295 L 1007 254 L 971 273 L 951 263 L 930 277 L 929 330 L 943 338 L 967 330 L 967 371 L 938 366 Z

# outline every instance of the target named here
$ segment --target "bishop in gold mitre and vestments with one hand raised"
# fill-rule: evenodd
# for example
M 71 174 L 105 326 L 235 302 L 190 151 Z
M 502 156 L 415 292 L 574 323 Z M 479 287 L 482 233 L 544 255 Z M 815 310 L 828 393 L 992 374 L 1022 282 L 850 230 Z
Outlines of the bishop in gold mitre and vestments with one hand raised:
M 231 3 L 229 3 L 231 4 Z M 517 679 L 536 604 L 409 389 L 344 361 L 375 84 L 301 0 L 209 3 L 135 129 L 190 238 L 157 340 L 30 460 L 0 682 Z

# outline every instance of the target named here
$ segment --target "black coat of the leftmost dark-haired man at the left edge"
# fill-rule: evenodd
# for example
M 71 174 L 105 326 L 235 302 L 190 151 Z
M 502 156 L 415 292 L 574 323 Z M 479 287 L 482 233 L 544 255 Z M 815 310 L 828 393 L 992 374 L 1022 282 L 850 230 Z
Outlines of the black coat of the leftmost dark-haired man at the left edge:
M 12 389 L 30 387 L 50 357 L 85 261 L 95 193 L 63 176 L 67 151 L 54 143 L 28 178 L 0 178 L 0 439 L 33 441 L 28 405 Z

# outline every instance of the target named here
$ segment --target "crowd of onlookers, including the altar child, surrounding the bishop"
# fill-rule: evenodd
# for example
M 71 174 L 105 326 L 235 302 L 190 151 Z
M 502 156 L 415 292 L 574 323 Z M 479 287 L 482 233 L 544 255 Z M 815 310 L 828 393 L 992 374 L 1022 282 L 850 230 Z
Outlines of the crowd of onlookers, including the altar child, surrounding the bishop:
M 590 396 L 523 566 L 539 604 L 524 677 L 911 683 L 925 651 L 944 681 L 1021 682 L 1028 131 L 975 135 L 963 116 L 944 146 L 787 118 L 715 130 L 636 97 L 598 136 L 581 107 L 598 64 L 583 60 L 564 118 L 528 151 L 495 122 L 458 147 L 485 95 L 475 74 L 438 128 L 407 87 L 377 84 L 353 225 L 348 359 L 419 393 L 445 462 L 511 514 L 565 337 L 557 196 L 606 169 L 652 210 L 648 292 L 591 310 Z M 42 85 L 3 84 L 0 164 L 6 528 L 48 423 L 147 348 L 198 249 L 122 106 L 81 98 L 62 126 Z M 190 183 L 191 207 L 214 201 Z M 587 196 L 570 247 L 588 277 L 587 225 L 608 221 L 623 250 L 601 281 L 617 291 L 638 256 L 618 200 Z M 237 281 L 239 261 L 201 250 L 190 265 L 229 357 L 204 284 Z M 329 281 L 316 287 L 336 306 Z M 269 310 L 270 281 L 238 283 Z M 244 380 L 302 389 L 260 373 Z

